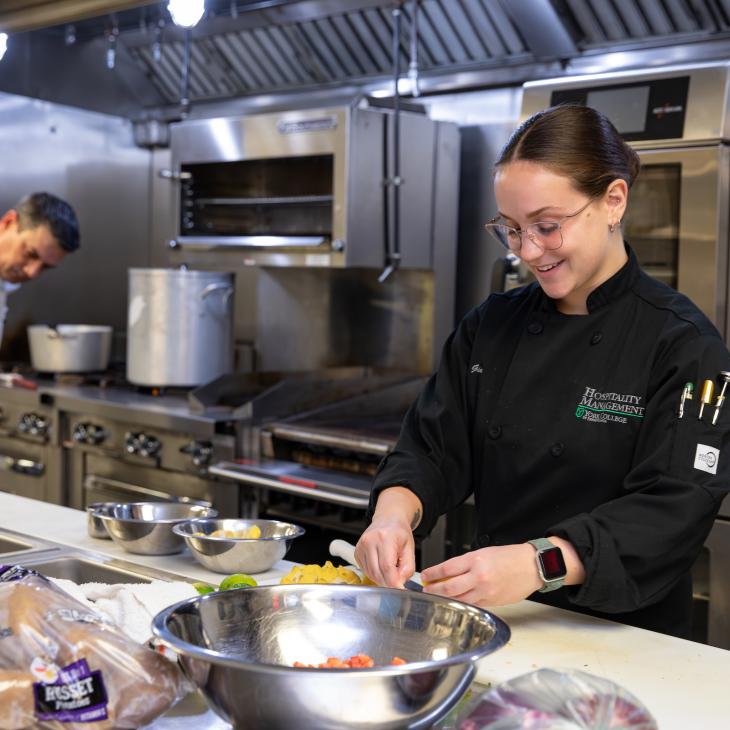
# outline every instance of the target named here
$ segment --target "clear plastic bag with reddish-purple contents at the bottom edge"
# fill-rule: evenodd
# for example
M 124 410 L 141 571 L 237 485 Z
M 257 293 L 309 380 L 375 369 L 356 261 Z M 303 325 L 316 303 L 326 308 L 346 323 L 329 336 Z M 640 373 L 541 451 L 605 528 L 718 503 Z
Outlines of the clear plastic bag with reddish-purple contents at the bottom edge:
M 577 670 L 538 669 L 468 705 L 459 730 L 657 730 L 632 694 Z

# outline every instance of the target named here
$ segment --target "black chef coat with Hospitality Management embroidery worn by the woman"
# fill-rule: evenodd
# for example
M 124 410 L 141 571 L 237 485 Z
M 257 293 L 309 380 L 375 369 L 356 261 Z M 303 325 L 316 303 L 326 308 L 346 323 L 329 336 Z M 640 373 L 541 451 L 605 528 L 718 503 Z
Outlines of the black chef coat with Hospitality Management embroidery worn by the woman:
M 576 548 L 585 582 L 531 598 L 686 636 L 690 568 L 730 488 L 730 403 L 713 426 L 699 395 L 730 354 L 627 252 L 587 315 L 560 313 L 537 284 L 467 314 L 380 464 L 371 510 L 408 487 L 424 533 L 473 493 L 475 547 L 555 535 Z

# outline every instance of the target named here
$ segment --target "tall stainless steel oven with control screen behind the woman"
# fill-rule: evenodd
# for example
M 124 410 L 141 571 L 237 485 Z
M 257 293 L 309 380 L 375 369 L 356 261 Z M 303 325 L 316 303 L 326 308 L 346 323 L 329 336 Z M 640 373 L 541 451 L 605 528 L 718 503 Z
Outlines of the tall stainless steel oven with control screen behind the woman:
M 730 64 L 529 82 L 521 117 L 570 102 L 603 112 L 641 159 L 623 229 L 643 268 L 689 296 L 730 341 Z M 695 638 L 730 648 L 730 499 L 693 578 Z

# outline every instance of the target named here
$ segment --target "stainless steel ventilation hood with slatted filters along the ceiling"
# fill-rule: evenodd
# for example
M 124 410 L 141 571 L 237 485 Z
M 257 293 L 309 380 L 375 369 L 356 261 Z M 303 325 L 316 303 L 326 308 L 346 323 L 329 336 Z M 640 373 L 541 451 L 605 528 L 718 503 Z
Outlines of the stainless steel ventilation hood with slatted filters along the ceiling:
M 206 16 L 190 36 L 189 100 L 195 106 L 343 88 L 387 93 L 396 4 L 208 0 Z M 185 32 L 172 24 L 165 5 L 2 3 L 0 30 L 27 32 L 11 35 L 0 89 L 130 117 L 174 110 Z M 66 6 L 65 16 L 59 6 Z M 100 14 L 88 18 L 92 7 Z M 400 7 L 405 75 L 413 60 L 416 3 L 404 0 Z M 415 17 L 422 93 L 726 58 L 730 50 L 730 0 L 420 0 Z M 33 30 L 43 18 L 54 25 Z M 111 42 L 116 59 L 108 69 Z M 22 64 L 17 73 L 10 70 L 13 63 Z M 92 97 L 85 82 L 100 79 L 110 90 Z

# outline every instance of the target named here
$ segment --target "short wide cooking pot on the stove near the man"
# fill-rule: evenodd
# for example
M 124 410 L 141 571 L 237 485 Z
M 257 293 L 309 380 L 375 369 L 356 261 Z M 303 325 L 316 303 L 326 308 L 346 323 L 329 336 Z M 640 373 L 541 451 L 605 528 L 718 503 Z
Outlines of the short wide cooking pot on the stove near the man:
M 106 370 L 112 328 L 106 325 L 59 324 L 28 327 L 33 368 L 49 373 L 88 373 Z

